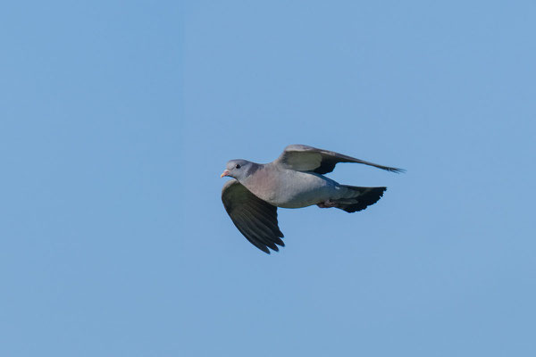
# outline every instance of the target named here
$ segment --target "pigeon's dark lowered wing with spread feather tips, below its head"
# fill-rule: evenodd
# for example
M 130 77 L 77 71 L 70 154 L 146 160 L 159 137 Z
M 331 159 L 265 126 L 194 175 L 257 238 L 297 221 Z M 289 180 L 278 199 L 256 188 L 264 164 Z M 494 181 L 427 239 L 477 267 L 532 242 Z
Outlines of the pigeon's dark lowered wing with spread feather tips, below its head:
M 222 202 L 234 225 L 251 244 L 265 253 L 270 253 L 268 247 L 279 251 L 277 245 L 285 246 L 277 225 L 276 206 L 253 195 L 236 179 L 223 186 Z

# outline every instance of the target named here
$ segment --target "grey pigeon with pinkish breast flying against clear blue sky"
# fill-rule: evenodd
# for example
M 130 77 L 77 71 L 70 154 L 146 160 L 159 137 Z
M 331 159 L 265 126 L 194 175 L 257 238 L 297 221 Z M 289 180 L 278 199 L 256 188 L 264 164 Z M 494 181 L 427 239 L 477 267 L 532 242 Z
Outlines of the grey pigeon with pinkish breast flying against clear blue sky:
M 220 178 L 230 177 L 222 187 L 222 203 L 240 233 L 258 249 L 270 254 L 285 246 L 277 220 L 277 209 L 316 204 L 352 213 L 378 202 L 387 187 L 341 185 L 324 174 L 339 162 L 356 162 L 390 172 L 389 166 L 365 162 L 344 154 L 308 145 L 288 145 L 273 162 L 243 159 L 227 162 Z

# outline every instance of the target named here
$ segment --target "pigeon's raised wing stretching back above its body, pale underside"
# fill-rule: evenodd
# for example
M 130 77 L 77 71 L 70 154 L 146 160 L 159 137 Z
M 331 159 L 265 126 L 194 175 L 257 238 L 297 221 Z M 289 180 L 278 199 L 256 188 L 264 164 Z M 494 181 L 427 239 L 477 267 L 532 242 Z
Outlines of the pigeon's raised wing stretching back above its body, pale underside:
M 355 157 L 334 153 L 328 150 L 317 149 L 307 145 L 289 145 L 274 163 L 290 170 L 313 171 L 324 174 L 331 172 L 338 162 L 357 162 L 377 167 L 391 172 L 404 172 L 403 169 L 378 165 L 373 162 L 365 162 Z

